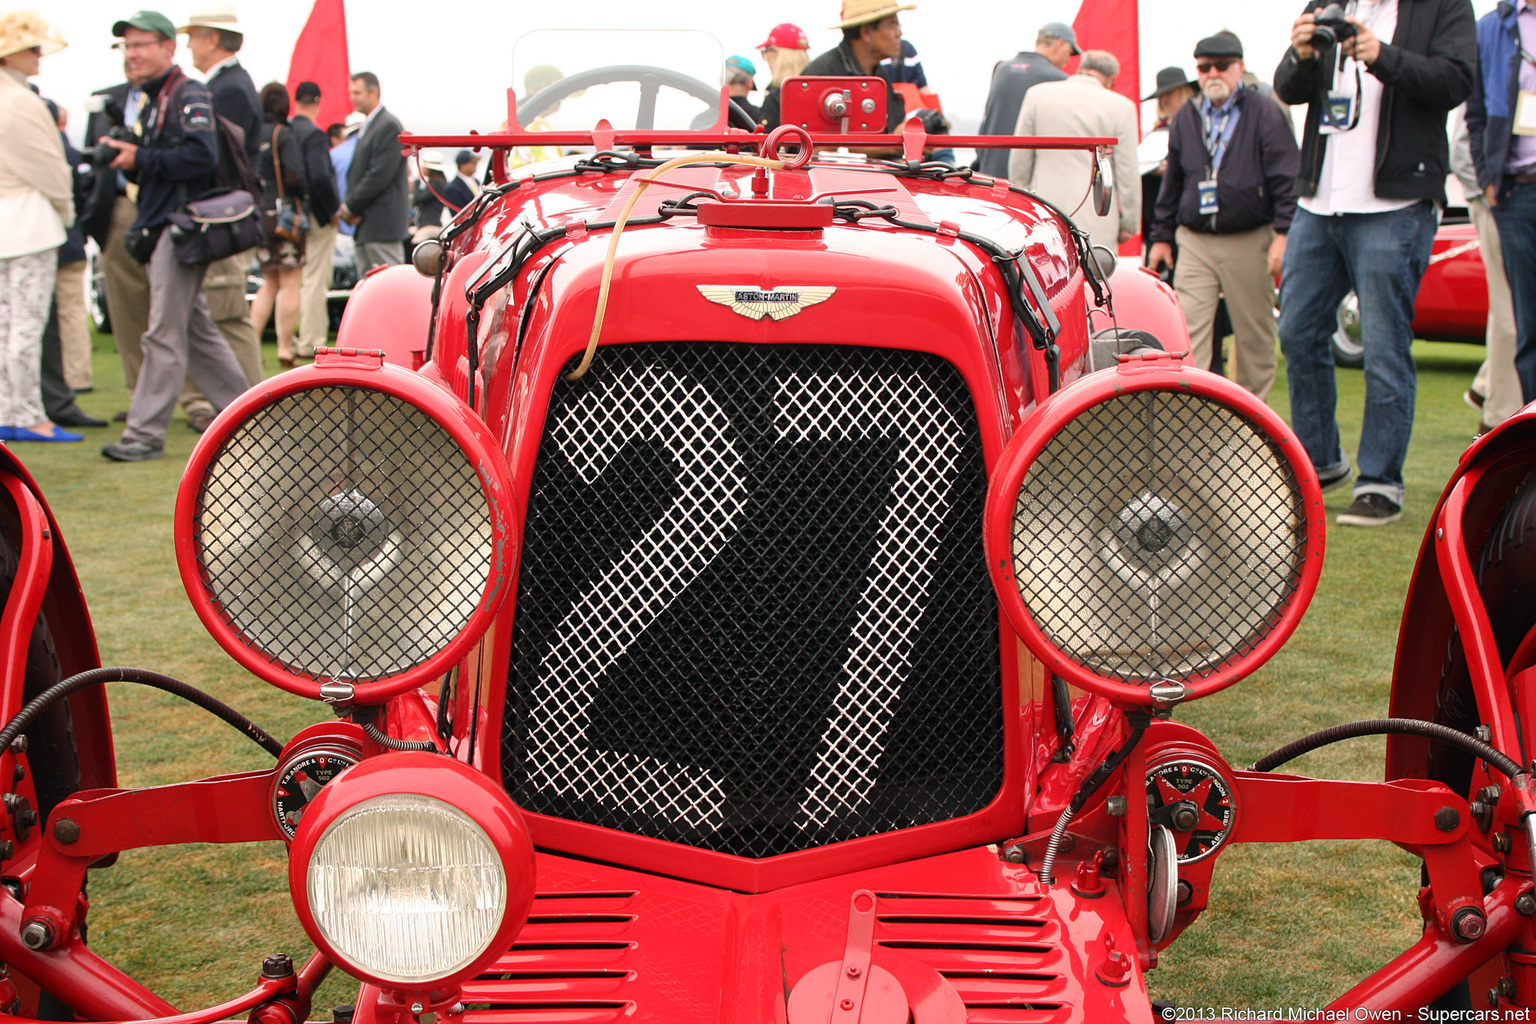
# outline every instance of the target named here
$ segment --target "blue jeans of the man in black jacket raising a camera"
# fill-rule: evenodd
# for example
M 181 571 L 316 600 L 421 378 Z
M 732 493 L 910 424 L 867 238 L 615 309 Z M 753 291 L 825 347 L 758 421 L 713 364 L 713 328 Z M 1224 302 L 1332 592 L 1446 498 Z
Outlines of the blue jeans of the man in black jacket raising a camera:
M 1296 210 L 1279 286 L 1279 348 L 1290 382 L 1290 425 L 1318 473 L 1349 467 L 1335 418 L 1333 332 L 1339 301 L 1359 296 L 1366 416 L 1355 496 L 1402 504 L 1402 461 L 1413 431 L 1413 299 L 1439 218 L 1432 203 L 1390 213 L 1318 216 Z

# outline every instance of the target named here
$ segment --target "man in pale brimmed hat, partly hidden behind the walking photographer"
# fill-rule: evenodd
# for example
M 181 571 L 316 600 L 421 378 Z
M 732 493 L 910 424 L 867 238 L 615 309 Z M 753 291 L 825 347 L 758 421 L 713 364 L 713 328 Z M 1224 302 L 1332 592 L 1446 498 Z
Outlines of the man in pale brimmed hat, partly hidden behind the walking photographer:
M 240 64 L 240 48 L 246 37 L 235 18 L 235 5 L 221 0 L 204 0 L 200 11 L 181 26 L 187 37 L 192 66 L 201 71 L 207 91 L 214 98 L 214 114 L 229 118 L 244 134 L 246 160 L 257 166 L 261 152 L 261 98 L 250 72 Z M 261 197 L 257 197 L 258 200 Z M 266 376 L 261 365 L 261 339 L 250 324 L 250 304 L 246 301 L 246 278 L 250 275 L 252 253 L 237 252 L 224 259 L 207 264 L 203 278 L 203 295 L 207 310 L 218 330 L 229 342 L 230 352 L 240 359 L 240 368 L 250 381 Z M 187 410 L 187 425 L 203 433 L 214 422 L 214 407 L 187 378 L 181 391 L 181 407 Z

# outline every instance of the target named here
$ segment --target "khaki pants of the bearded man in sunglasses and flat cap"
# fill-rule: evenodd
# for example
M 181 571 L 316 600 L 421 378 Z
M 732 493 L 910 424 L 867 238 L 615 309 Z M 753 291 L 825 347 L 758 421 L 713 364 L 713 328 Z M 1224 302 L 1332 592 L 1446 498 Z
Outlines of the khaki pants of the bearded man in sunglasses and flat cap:
M 1275 279 L 1269 276 L 1267 224 L 1235 235 L 1203 235 L 1180 227 L 1174 290 L 1184 307 L 1197 367 L 1210 365 L 1217 302 L 1227 299 L 1232 316 L 1232 378 L 1260 398 L 1275 385 Z

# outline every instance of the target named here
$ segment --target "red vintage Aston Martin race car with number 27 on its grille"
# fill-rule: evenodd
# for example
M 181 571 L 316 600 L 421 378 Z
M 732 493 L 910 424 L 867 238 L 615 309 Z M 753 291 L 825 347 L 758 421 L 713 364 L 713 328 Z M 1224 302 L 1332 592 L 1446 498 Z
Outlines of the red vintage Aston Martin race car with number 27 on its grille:
M 1301 619 L 1306 456 L 1178 361 L 1150 278 L 925 161 L 915 121 L 879 134 L 877 81 L 790 80 L 768 135 L 722 104 L 705 132 L 407 140 L 487 147 L 493 180 L 359 286 L 339 348 L 220 415 L 175 507 L 203 623 L 315 702 L 295 737 L 98 666 L 0 453 L 0 1022 L 293 1024 L 332 969 L 359 1024 L 1150 1021 L 1223 852 L 1315 838 L 1424 860 L 1422 936 L 1330 1012 L 1479 970 L 1536 998 L 1536 413 L 1435 513 L 1393 717 L 1229 765 L 1177 712 Z M 1086 177 L 1103 141 L 1012 144 L 1087 150 Z M 590 152 L 510 170 L 535 144 Z M 121 682 L 275 766 L 117 789 Z M 1273 771 L 1381 732 L 1387 781 Z M 92 864 L 263 840 L 304 963 L 178 1012 L 86 944 Z

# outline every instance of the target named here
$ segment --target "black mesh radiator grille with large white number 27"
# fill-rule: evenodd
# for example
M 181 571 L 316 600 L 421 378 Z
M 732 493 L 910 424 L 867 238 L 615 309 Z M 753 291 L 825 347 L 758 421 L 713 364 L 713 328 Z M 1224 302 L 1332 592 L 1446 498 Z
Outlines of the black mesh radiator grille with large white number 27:
M 985 497 L 935 356 L 601 348 L 550 398 L 528 497 L 507 789 L 742 857 L 986 806 Z

